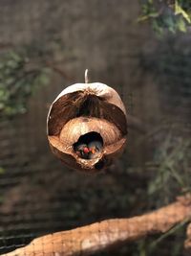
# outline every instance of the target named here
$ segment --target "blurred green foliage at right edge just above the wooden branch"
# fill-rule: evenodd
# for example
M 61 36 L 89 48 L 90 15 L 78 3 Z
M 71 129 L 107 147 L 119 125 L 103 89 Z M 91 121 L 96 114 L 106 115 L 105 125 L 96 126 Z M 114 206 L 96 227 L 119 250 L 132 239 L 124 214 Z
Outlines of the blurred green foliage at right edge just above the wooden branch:
M 152 195 L 159 190 L 170 189 L 171 179 L 176 181 L 180 192 L 191 190 L 188 178 L 188 164 L 191 141 L 183 138 L 175 138 L 172 133 L 167 135 L 166 140 L 156 151 L 155 164 L 158 166 L 157 174 L 149 186 L 148 193 Z

